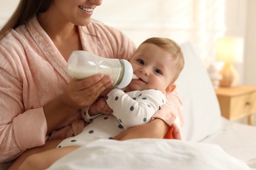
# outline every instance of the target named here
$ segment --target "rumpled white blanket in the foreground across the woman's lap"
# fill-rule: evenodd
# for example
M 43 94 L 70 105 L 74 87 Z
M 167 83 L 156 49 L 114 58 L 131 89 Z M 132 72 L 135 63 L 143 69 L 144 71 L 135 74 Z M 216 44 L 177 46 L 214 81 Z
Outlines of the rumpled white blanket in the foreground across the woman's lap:
M 217 144 L 170 139 L 99 139 L 81 146 L 49 169 L 250 169 Z

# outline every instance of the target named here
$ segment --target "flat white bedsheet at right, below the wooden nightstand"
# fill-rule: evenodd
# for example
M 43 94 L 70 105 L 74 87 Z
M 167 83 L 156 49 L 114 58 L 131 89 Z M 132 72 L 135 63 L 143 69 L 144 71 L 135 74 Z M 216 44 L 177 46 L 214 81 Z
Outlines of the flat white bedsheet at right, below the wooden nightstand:
M 219 131 L 201 142 L 218 144 L 225 152 L 256 169 L 256 127 L 222 119 Z

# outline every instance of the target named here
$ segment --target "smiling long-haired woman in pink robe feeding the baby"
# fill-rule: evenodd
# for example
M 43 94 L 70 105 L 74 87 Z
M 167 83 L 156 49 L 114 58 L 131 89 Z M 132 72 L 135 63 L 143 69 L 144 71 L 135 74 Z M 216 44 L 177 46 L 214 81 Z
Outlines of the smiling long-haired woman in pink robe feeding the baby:
M 33 150 L 57 146 L 86 126 L 80 109 L 89 107 L 112 80 L 101 74 L 72 80 L 65 70 L 72 51 L 86 50 L 106 58 L 132 56 L 135 44 L 123 33 L 91 21 L 93 10 L 101 3 L 20 0 L 1 29 L 0 163 L 13 160 L 30 148 L 23 157 Z M 127 129 L 115 139 L 162 138 L 175 120 L 181 120 L 177 93 L 168 97 L 171 105 L 162 107 L 152 122 Z M 181 138 L 179 132 L 173 134 Z

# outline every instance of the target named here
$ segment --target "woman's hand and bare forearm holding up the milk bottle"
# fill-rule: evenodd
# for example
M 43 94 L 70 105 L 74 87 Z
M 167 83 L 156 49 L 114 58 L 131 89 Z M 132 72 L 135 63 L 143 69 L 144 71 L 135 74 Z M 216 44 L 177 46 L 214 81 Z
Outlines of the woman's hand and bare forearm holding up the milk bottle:
M 110 76 L 102 74 L 83 80 L 72 80 L 62 95 L 43 107 L 47 119 L 47 132 L 51 132 L 75 110 L 89 107 L 112 83 Z

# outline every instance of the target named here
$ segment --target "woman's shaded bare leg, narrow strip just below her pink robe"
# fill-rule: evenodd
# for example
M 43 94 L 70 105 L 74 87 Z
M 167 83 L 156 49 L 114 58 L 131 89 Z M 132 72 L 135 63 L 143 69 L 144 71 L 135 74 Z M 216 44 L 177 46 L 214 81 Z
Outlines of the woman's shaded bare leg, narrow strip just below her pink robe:
M 20 155 L 19 158 L 17 158 L 16 161 L 14 161 L 14 163 L 12 163 L 11 167 L 9 168 L 9 170 L 16 170 L 16 169 L 18 169 L 18 167 L 20 167 L 20 165 L 26 160 L 26 158 L 28 158 L 32 154 L 37 154 L 37 153 L 40 153 L 40 152 L 44 152 L 46 150 L 51 150 L 53 148 L 56 148 L 56 146 L 58 146 L 58 144 L 61 141 L 62 141 L 62 139 L 46 141 L 45 145 L 43 145 L 43 146 L 38 146 L 38 147 L 26 150 L 24 153 L 22 153 Z

